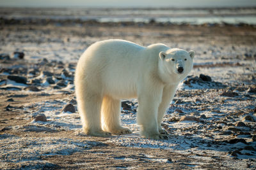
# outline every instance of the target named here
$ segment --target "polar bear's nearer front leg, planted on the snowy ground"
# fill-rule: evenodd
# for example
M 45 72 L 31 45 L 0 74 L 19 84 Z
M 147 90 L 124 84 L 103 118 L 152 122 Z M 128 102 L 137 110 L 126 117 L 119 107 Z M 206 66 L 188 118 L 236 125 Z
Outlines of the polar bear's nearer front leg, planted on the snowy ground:
M 157 113 L 161 97 L 162 92 L 152 95 L 141 95 L 138 98 L 137 121 L 140 125 L 140 134 L 143 138 L 168 139 L 166 134 L 160 134 L 158 131 Z

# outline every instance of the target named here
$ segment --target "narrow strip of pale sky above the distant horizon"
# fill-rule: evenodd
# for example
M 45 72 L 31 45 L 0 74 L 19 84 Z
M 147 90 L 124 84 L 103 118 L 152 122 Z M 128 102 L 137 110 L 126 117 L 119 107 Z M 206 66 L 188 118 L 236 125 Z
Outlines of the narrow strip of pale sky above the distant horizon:
M 230 7 L 256 0 L 0 0 L 0 7 Z

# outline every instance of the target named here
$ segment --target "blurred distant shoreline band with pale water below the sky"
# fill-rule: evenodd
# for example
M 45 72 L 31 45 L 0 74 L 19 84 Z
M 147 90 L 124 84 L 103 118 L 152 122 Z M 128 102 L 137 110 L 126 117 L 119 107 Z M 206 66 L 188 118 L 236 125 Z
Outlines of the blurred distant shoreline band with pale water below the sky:
M 256 25 L 250 8 L 0 8 L 2 24 Z

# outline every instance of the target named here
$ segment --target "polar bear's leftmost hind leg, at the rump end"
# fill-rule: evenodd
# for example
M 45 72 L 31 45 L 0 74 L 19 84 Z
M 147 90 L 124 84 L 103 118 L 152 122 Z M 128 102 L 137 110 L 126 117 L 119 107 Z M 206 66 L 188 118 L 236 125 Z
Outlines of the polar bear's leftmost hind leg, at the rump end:
M 102 97 L 88 92 L 77 93 L 78 111 L 83 124 L 83 132 L 91 136 L 107 137 L 109 132 L 102 131 L 100 124 L 100 107 Z

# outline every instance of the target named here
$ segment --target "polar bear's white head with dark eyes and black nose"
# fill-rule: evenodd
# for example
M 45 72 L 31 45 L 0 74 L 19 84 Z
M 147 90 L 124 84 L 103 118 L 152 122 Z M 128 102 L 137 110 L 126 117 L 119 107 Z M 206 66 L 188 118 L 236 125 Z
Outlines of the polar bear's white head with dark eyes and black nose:
M 185 78 L 193 68 L 194 51 L 187 52 L 178 48 L 171 48 L 166 52 L 160 52 L 161 67 L 164 74 L 172 78 Z

